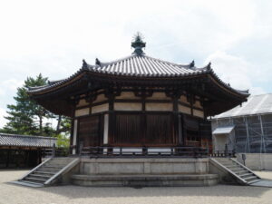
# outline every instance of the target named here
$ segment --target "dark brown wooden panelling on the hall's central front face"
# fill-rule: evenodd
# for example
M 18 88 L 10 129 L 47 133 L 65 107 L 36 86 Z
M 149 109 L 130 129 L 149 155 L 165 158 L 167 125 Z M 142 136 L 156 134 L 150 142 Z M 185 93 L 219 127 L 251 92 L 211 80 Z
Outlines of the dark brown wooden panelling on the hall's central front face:
M 112 119 L 112 145 L 163 146 L 175 142 L 170 113 L 115 113 Z

